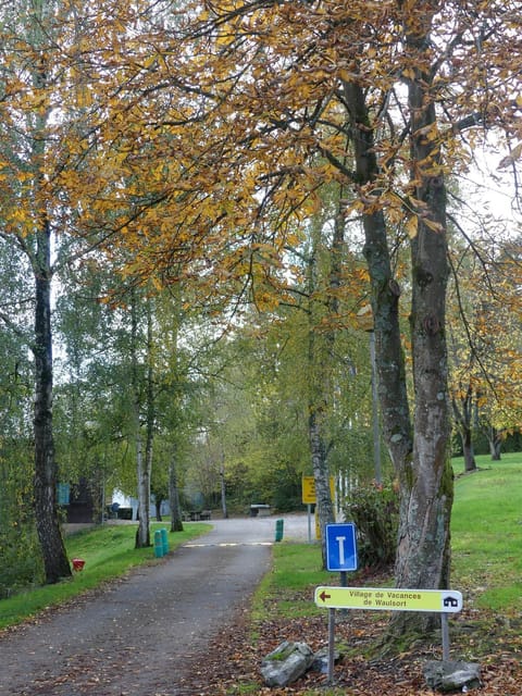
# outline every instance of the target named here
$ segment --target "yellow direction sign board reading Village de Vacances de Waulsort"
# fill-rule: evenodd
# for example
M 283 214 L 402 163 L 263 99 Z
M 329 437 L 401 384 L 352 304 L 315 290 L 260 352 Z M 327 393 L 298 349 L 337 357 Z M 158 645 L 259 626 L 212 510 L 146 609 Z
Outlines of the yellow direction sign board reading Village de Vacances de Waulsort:
M 455 613 L 462 609 L 462 595 L 455 589 L 321 586 L 315 588 L 315 604 L 330 609 Z

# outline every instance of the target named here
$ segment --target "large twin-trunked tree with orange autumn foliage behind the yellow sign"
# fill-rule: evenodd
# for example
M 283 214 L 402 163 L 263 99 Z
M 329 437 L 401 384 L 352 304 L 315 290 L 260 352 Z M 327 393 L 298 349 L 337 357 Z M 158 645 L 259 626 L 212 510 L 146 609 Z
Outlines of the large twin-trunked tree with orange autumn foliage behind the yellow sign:
M 167 274 L 190 229 L 192 260 L 207 268 L 204 240 L 216 281 L 273 279 L 320 204 L 318 189 L 333 179 L 353 189 L 344 213 L 362 219 L 383 430 L 401 494 L 399 586 L 449 584 L 446 176 L 465 166 L 465 128 L 514 133 L 517 16 L 513 2 L 263 0 L 231 9 L 215 0 L 182 29 L 158 30 L 154 74 L 142 74 L 144 85 L 159 85 L 161 72 L 164 94 L 183 104 L 165 109 L 156 156 L 170 138 L 185 163 L 183 172 L 173 163 L 169 200 L 154 211 L 157 220 L 173 215 L 176 240 L 153 239 L 156 256 L 147 240 L 137 256 L 147 272 L 153 257 L 153 272 Z M 412 413 L 394 274 L 394 247 L 405 241 Z M 400 616 L 396 627 L 424 620 Z

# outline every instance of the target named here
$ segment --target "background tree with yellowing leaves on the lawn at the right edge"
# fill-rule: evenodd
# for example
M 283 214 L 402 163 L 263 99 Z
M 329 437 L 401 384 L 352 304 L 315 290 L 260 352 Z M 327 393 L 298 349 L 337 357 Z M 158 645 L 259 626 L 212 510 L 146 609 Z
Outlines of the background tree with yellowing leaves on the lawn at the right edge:
M 497 239 L 492 247 L 475 236 L 471 249 L 457 247 L 451 262 L 450 394 L 467 472 L 476 469 L 473 437 L 481 430 L 495 459 L 502 433 L 520 422 L 517 281 L 505 252 L 510 246 Z

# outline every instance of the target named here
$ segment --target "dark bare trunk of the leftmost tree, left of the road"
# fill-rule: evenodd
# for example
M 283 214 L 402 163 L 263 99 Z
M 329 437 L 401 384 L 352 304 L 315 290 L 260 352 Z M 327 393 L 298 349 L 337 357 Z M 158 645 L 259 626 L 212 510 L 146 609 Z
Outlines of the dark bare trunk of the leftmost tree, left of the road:
M 50 231 L 47 222 L 37 235 L 35 261 L 35 514 L 44 556 L 46 582 L 71 575 L 60 531 L 57 501 L 57 463 L 52 432 L 52 330 Z

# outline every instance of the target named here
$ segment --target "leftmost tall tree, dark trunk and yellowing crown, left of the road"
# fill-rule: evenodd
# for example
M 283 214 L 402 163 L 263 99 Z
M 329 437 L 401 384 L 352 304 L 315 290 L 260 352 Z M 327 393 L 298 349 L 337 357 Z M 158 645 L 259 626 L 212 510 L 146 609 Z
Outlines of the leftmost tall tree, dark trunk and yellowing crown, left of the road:
M 74 265 L 96 247 L 104 233 L 99 221 L 114 216 L 114 200 L 102 192 L 119 188 L 125 174 L 103 163 L 100 127 L 111 95 L 89 89 L 103 69 L 88 58 L 100 57 L 113 26 L 112 20 L 104 24 L 104 12 L 100 8 L 92 24 L 90 9 L 75 2 L 20 0 L 0 14 L 1 235 L 34 283 L 33 295 L 18 304 L 23 311 L 1 319 L 34 356 L 35 509 L 49 583 L 71 575 L 55 496 L 51 300 L 60 286 L 53 281 L 66 262 Z M 92 54 L 84 51 L 87 45 Z

